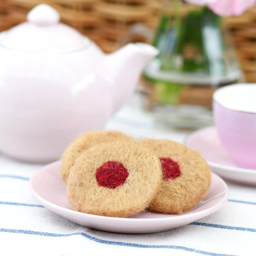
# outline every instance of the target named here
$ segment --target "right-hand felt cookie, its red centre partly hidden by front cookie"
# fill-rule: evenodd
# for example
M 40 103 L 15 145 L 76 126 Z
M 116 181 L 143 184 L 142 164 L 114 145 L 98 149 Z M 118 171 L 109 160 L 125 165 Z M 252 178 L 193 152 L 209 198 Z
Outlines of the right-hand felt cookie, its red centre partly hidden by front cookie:
M 180 214 L 198 204 L 211 181 L 210 168 L 204 158 L 170 140 L 144 139 L 141 143 L 152 148 L 162 163 L 162 184 L 149 208 Z

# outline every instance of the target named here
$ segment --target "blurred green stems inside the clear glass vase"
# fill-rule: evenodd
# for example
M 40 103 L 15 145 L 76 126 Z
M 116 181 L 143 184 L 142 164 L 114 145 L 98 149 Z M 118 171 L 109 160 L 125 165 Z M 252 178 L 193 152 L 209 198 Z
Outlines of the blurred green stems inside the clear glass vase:
M 157 56 L 160 71 L 180 76 L 183 73 L 204 73 L 210 78 L 223 76 L 226 68 L 221 18 L 207 7 L 181 17 L 180 0 L 173 0 L 172 6 L 173 17 L 163 12 L 153 41 L 160 50 Z M 177 104 L 182 90 L 187 87 L 174 81 L 151 79 L 157 99 L 162 103 Z

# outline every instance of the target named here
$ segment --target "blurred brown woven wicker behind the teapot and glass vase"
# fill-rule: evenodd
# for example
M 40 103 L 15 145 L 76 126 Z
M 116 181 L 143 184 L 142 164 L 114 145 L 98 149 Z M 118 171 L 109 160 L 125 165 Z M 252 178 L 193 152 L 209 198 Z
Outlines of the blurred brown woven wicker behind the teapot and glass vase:
M 44 0 L 61 14 L 61 21 L 95 41 L 105 52 L 119 48 L 122 36 L 133 24 L 153 31 L 162 0 Z M 42 0 L 0 0 L 0 31 L 26 20 L 26 14 Z M 183 8 L 189 5 L 183 4 Z M 247 82 L 256 82 L 256 6 L 239 17 L 224 19 L 238 52 Z M 144 41 L 137 36 L 133 41 Z

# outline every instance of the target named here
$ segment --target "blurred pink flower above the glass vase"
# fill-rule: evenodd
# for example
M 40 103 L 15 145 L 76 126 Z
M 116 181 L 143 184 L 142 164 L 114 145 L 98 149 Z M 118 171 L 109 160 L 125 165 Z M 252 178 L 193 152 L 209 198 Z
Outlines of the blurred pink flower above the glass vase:
M 256 4 L 256 0 L 186 0 L 198 6 L 207 5 L 220 16 L 239 16 Z

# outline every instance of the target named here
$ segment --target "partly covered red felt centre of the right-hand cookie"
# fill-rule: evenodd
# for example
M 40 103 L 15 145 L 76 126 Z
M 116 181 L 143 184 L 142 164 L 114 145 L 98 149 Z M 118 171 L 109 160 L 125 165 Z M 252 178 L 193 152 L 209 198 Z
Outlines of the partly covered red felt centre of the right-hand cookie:
M 160 161 L 162 163 L 163 178 L 165 180 L 173 180 L 180 176 L 180 167 L 178 163 L 172 161 L 172 159 L 168 157 L 160 157 Z

